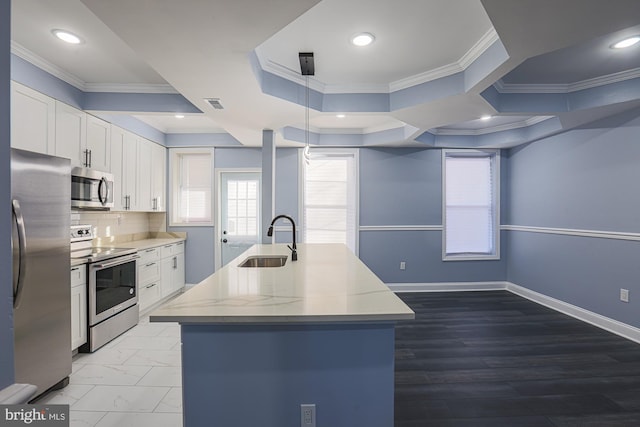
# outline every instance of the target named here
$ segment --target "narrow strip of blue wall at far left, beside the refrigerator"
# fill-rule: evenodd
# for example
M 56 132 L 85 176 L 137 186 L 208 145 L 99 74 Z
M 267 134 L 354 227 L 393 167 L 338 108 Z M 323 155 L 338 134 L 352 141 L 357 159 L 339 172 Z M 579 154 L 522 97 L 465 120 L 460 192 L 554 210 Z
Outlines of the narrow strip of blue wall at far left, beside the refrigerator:
M 0 1 L 0 389 L 13 383 L 10 147 L 11 2 Z

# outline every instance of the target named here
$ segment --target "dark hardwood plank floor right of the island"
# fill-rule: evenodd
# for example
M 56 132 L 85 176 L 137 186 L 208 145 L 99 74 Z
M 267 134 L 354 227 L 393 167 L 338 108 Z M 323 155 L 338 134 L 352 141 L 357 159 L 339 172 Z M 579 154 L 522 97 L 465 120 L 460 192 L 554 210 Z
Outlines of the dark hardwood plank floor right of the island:
M 640 344 L 511 294 L 398 294 L 396 427 L 640 426 Z

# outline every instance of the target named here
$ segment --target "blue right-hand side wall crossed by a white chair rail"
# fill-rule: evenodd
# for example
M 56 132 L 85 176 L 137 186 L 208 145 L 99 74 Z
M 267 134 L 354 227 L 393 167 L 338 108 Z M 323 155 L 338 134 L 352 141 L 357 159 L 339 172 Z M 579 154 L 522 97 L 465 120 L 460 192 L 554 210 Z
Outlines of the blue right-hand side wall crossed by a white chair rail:
M 639 233 L 639 135 L 635 110 L 510 150 L 509 224 Z M 640 242 L 506 233 L 510 282 L 640 327 Z

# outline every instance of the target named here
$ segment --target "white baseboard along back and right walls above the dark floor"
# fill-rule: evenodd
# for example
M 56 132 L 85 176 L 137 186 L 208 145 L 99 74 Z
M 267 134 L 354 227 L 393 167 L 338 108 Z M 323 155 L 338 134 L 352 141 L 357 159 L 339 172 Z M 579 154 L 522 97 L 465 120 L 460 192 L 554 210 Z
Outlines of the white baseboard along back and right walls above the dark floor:
M 509 291 L 560 313 L 640 343 L 640 329 L 511 282 L 387 283 L 393 292 Z

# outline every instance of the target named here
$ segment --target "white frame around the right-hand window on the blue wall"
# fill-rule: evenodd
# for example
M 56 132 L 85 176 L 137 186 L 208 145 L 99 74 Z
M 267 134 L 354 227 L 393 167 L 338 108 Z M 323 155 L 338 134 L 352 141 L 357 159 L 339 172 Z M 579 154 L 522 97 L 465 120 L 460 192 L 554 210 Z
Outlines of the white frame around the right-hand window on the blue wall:
M 447 157 L 489 157 L 493 172 L 493 239 L 494 252 L 481 253 L 456 253 L 447 254 L 447 183 L 446 183 L 446 159 Z M 481 261 L 500 259 L 500 150 L 442 150 L 442 260 L 443 261 Z

